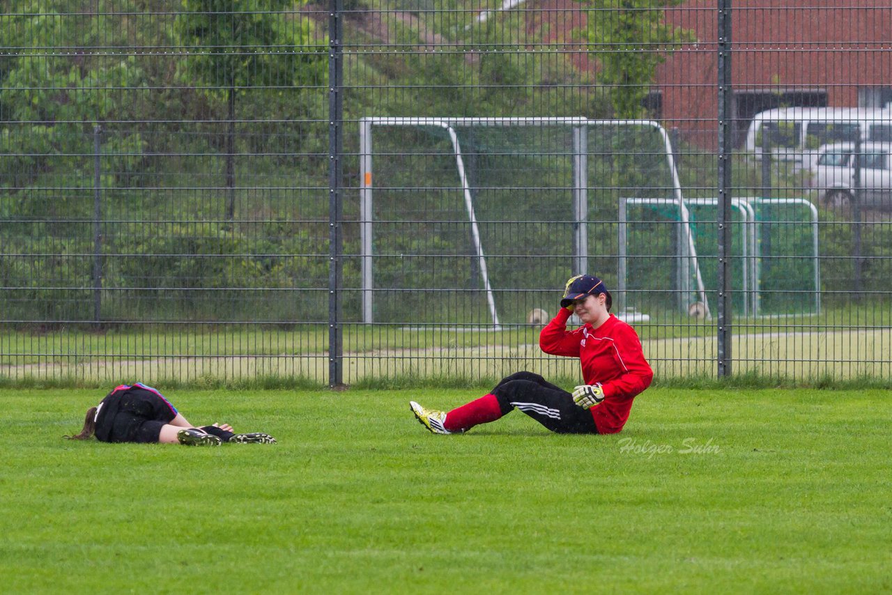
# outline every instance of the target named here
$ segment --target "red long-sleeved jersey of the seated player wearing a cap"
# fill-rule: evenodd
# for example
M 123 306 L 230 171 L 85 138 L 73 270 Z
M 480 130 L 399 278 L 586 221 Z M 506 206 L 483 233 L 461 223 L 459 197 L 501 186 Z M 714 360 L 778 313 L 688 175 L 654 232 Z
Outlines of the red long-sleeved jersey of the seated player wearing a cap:
M 566 330 L 573 312 L 561 308 L 539 335 L 542 351 L 551 355 L 578 357 L 585 384 L 601 384 L 604 401 L 591 408 L 599 434 L 615 434 L 623 429 L 632 409 L 632 400 L 650 385 L 650 369 L 641 341 L 632 326 L 613 314 L 598 328 L 590 324 Z

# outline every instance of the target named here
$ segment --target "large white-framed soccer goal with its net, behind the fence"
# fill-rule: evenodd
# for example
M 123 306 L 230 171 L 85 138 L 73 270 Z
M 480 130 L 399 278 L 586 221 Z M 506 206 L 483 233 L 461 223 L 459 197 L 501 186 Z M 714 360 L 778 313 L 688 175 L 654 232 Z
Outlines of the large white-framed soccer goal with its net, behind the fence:
M 651 120 L 363 118 L 359 169 L 368 324 L 422 294 L 450 300 L 425 322 L 521 322 L 590 264 L 615 282 L 620 194 L 681 200 Z

